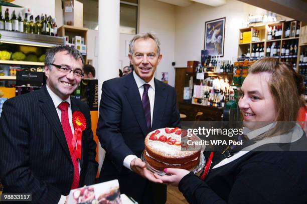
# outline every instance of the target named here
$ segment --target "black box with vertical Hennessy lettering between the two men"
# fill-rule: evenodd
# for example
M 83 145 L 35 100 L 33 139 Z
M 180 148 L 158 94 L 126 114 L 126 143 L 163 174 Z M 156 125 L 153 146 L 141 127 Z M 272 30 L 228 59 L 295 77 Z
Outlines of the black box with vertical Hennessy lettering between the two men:
M 81 100 L 86 102 L 90 111 L 98 110 L 98 79 L 82 79 Z

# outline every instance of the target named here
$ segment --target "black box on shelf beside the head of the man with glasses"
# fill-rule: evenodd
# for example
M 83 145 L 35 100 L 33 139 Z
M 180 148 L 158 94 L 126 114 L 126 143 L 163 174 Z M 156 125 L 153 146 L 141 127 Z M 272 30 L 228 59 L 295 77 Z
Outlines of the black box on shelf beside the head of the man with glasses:
M 41 87 L 46 83 L 45 73 L 38 71 L 17 71 L 16 85 Z

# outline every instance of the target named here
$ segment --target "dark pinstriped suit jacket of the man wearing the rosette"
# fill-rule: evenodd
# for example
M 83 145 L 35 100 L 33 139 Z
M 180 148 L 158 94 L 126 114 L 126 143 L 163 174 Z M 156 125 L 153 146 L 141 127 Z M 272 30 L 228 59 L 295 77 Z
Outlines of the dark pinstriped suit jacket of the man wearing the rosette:
M 79 186 L 90 185 L 95 181 L 98 164 L 89 108 L 73 97 L 71 108 L 86 117 Z M 61 194 L 67 195 L 74 166 L 46 86 L 7 100 L 0 124 L 0 177 L 4 193 L 32 193 L 36 203 L 57 203 Z

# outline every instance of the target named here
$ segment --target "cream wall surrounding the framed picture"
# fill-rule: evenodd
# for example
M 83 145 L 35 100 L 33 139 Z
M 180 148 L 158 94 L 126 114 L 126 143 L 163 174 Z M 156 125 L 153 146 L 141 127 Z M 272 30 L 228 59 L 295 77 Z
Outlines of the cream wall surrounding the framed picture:
M 248 14 L 266 14 L 265 9 L 249 5 L 237 0 L 227 0 L 227 3 L 212 7 L 194 3 L 188 7 L 176 9 L 176 40 L 175 60 L 178 67 L 187 65 L 188 60 L 201 60 L 201 50 L 204 49 L 205 22 L 226 17 L 224 57 L 231 60 L 237 56 L 239 28 L 247 20 Z M 277 14 L 280 18 L 290 19 Z

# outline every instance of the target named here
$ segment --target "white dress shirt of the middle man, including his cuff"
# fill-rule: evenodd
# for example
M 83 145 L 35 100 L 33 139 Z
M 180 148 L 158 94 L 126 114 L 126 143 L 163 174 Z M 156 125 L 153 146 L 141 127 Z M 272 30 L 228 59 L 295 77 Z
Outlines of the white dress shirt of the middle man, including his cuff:
M 139 91 L 139 96 L 142 99 L 143 92 L 144 92 L 143 85 L 146 82 L 143 79 L 141 79 L 135 73 L 135 71 L 133 71 L 133 77 L 134 77 L 134 80 L 136 82 L 136 85 Z M 154 115 L 154 105 L 155 105 L 155 77 L 152 77 L 151 80 L 148 82 L 148 84 L 150 85 L 148 89 L 148 97 L 149 97 L 149 103 L 150 103 L 150 118 L 151 118 L 151 126 L 152 126 L 152 115 Z M 127 155 L 123 160 L 123 165 L 131 170 L 130 163 L 134 158 L 137 158 L 137 156 L 133 154 Z

